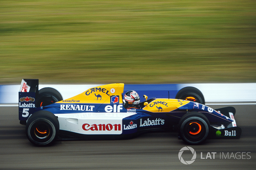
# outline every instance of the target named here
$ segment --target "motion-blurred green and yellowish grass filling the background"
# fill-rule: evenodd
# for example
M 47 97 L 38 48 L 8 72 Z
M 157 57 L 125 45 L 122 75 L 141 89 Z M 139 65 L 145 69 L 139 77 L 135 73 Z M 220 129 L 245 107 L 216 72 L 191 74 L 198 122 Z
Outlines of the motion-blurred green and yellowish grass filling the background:
M 0 1 L 0 84 L 256 81 L 256 1 Z

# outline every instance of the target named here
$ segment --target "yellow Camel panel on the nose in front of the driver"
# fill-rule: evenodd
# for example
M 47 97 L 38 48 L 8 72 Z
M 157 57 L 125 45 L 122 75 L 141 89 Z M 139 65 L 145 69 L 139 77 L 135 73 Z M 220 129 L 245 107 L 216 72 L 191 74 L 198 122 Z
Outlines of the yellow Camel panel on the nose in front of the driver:
M 188 104 L 190 101 L 180 99 L 156 99 L 148 103 L 143 110 L 149 112 L 171 112 L 181 106 Z

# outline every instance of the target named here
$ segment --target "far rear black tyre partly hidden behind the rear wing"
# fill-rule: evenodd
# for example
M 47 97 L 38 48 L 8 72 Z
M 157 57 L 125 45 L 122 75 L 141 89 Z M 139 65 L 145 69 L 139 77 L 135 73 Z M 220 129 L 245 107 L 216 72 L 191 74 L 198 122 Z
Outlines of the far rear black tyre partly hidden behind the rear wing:
M 47 106 L 60 100 L 63 100 L 60 92 L 54 88 L 45 87 L 38 91 L 36 107 Z

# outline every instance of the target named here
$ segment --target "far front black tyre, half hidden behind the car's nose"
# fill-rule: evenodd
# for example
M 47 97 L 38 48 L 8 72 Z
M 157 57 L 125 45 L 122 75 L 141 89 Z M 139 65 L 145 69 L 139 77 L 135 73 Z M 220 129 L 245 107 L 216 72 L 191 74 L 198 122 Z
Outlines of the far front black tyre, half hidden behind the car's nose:
M 195 87 L 184 87 L 176 94 L 175 99 L 189 100 L 205 104 L 204 96 L 200 90 Z

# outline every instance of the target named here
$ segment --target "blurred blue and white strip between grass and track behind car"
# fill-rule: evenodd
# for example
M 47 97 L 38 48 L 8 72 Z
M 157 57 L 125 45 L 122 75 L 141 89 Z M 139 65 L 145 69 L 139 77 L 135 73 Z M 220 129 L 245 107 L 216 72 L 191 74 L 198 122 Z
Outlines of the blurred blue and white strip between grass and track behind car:
M 68 99 L 89 88 L 98 85 L 40 85 L 39 89 L 52 87 L 58 90 L 63 99 Z M 140 95 L 143 101 L 143 95 L 148 98 L 175 98 L 177 92 L 186 86 L 193 86 L 199 89 L 205 102 L 244 102 L 256 101 L 256 83 L 223 83 L 223 84 L 142 84 L 142 85 L 124 85 L 124 93 L 134 90 Z M 20 85 L 0 85 L 0 104 L 18 103 L 18 91 Z M 169 92 L 169 96 L 168 96 Z

